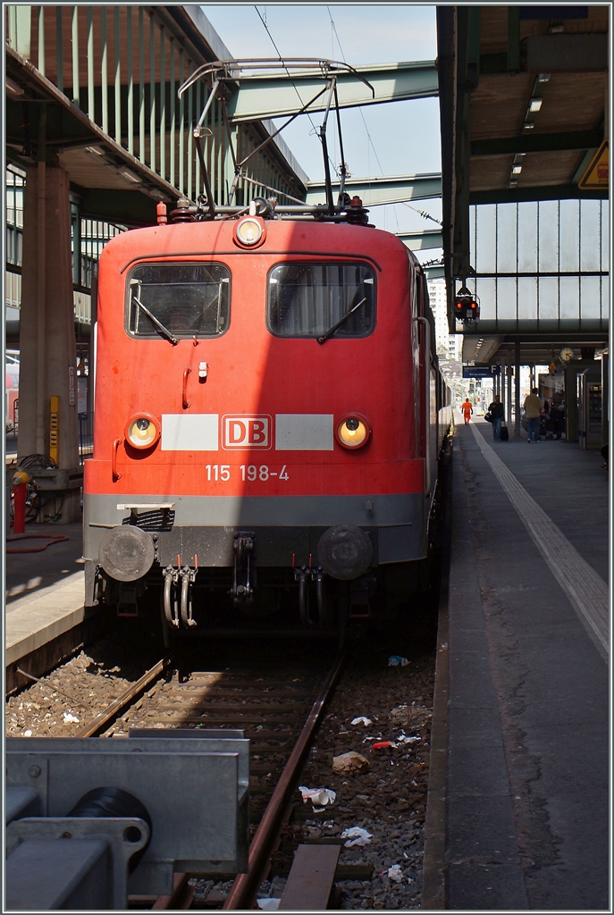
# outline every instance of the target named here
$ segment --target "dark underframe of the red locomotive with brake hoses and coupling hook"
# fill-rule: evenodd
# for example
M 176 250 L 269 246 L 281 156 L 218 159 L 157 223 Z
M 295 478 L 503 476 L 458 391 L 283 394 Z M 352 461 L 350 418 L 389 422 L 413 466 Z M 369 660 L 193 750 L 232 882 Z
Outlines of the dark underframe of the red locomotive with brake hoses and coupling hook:
M 122 525 L 124 526 L 124 525 Z M 119 527 L 119 525 L 118 525 Z M 334 582 L 318 566 L 318 543 L 329 528 L 318 527 L 173 527 L 146 532 L 155 547 L 153 565 L 135 581 L 119 582 L 102 569 L 98 560 L 85 564 L 85 603 L 100 601 L 117 608 L 122 616 L 135 616 L 148 588 L 163 595 L 170 626 L 196 626 L 192 604 L 207 603 L 207 592 L 228 595 L 228 606 L 249 615 L 253 597 L 285 593 L 299 610 L 304 627 L 327 619 L 326 593 Z M 416 587 L 426 543 L 422 524 L 362 526 L 372 544 L 367 571 L 347 585 L 350 619 L 371 616 L 377 600 L 399 605 Z M 198 570 L 198 571 L 197 571 Z M 374 605 L 373 605 L 374 606 Z M 198 617 L 198 615 L 197 615 Z

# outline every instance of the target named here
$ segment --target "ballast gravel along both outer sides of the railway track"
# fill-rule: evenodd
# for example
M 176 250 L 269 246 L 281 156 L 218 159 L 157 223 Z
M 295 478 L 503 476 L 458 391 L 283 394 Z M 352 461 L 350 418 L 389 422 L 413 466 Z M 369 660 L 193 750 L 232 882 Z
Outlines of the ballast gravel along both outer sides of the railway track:
M 137 655 L 128 651 L 120 654 L 112 641 L 81 651 L 41 678 L 42 683 L 9 697 L 6 736 L 78 733 L 156 661 L 153 656 L 135 661 Z M 281 897 L 296 845 L 328 842 L 341 846 L 339 865 L 361 866 L 360 878 L 337 882 L 341 910 L 420 908 L 434 676 L 434 651 L 389 667 L 381 648 L 351 647 L 299 782 L 335 791 L 335 801 L 314 808 L 296 791 L 295 816 L 285 828 L 274 871 L 260 888 L 260 897 Z M 352 725 L 356 718 L 370 719 L 371 724 L 361 720 Z M 350 752 L 367 759 L 369 769 L 336 774 L 333 759 Z M 341 833 L 351 827 L 371 834 L 369 843 L 346 847 Z M 371 878 L 363 878 L 369 871 Z M 198 884 L 195 901 L 201 899 L 210 908 L 214 897 L 223 899 L 232 880 Z

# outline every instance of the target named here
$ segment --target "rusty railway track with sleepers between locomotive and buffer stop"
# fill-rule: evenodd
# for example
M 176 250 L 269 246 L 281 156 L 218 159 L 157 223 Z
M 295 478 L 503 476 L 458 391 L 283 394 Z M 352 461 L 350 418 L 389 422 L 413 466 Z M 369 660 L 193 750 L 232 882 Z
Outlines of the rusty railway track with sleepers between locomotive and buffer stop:
M 341 652 L 324 675 L 308 667 L 299 672 L 296 662 L 268 671 L 191 671 L 186 659 L 167 654 L 76 736 L 123 737 L 135 727 L 242 729 L 250 739 L 252 841 L 248 872 L 237 875 L 223 908 L 249 909 L 343 660 Z M 187 880 L 176 875 L 173 894 L 150 900 L 152 908 L 188 909 L 193 890 Z M 135 908 L 147 902 L 133 901 Z

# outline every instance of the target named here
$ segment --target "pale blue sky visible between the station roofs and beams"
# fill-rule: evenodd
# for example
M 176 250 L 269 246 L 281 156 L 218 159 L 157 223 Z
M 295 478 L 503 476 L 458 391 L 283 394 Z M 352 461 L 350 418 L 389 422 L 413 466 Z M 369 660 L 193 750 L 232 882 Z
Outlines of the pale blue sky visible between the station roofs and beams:
M 436 7 L 431 5 L 233 3 L 201 9 L 235 58 L 277 57 L 276 46 L 282 56 L 341 60 L 354 67 L 436 59 Z M 311 115 L 313 124 L 319 126 L 322 117 Z M 437 99 L 343 110 L 341 131 L 345 159 L 355 178 L 441 171 Z M 323 180 L 321 145 L 307 116 L 297 118 L 282 136 L 307 176 Z M 328 138 L 330 157 L 338 163 L 333 118 Z M 412 206 L 441 219 L 439 199 L 414 201 Z M 388 231 L 436 228 L 404 204 L 374 207 L 370 220 Z M 439 254 L 425 251 L 418 257 L 425 261 Z

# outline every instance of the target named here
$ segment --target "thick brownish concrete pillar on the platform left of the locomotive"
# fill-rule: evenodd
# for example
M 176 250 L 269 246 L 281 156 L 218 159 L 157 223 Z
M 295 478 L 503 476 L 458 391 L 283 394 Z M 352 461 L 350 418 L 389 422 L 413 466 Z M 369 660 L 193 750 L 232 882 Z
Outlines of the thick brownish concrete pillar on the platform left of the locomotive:
M 58 395 L 58 464 L 74 476 L 79 468 L 79 419 L 69 192 L 69 176 L 62 168 L 41 161 L 27 169 L 17 454 L 49 454 L 49 401 Z M 67 474 L 58 478 L 63 490 L 60 479 L 66 482 Z M 79 488 L 62 495 L 61 521 L 77 520 Z

